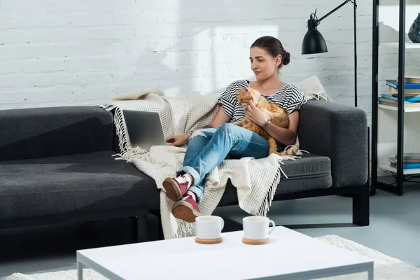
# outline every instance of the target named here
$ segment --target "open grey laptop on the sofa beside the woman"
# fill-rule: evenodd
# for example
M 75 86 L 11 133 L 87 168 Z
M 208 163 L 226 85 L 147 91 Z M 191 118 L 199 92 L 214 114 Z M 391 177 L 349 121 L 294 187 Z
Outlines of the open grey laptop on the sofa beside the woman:
M 133 148 L 149 151 L 151 146 L 170 146 L 165 141 L 162 121 L 157 112 L 123 110 L 128 137 Z

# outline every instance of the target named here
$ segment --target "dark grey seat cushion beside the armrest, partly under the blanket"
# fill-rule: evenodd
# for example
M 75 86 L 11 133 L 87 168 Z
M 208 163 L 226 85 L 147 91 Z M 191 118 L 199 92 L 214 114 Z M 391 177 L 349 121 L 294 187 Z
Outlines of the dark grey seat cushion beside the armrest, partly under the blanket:
M 283 163 L 281 169 L 288 178 L 281 174 L 276 195 L 332 186 L 331 162 L 328 157 L 304 153 L 301 158 L 283 160 Z M 237 202 L 237 191 L 229 182 L 220 205 L 234 202 Z

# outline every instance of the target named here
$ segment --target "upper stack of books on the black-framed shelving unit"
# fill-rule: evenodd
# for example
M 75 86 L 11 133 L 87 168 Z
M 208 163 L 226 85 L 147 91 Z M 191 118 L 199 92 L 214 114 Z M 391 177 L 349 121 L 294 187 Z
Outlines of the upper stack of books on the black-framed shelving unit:
M 388 106 L 398 106 L 398 78 L 396 80 L 386 80 L 389 92 L 381 94 L 379 104 Z M 404 106 L 420 108 L 420 77 L 404 78 Z

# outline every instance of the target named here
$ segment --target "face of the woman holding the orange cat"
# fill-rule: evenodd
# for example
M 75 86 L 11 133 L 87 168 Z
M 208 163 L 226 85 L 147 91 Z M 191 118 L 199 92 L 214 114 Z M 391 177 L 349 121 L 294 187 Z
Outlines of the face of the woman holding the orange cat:
M 281 63 L 281 55 L 272 57 L 267 50 L 253 47 L 249 54 L 251 61 L 251 70 L 257 80 L 265 80 L 274 74 L 277 74 L 277 67 Z

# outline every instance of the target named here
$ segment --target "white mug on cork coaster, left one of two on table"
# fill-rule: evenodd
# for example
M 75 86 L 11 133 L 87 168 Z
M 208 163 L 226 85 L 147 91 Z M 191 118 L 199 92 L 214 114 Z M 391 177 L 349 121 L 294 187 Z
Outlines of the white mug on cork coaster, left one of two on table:
M 218 239 L 225 226 L 223 218 L 218 216 L 198 216 L 195 218 L 197 237 L 200 239 Z

